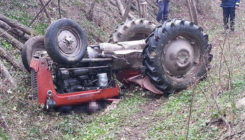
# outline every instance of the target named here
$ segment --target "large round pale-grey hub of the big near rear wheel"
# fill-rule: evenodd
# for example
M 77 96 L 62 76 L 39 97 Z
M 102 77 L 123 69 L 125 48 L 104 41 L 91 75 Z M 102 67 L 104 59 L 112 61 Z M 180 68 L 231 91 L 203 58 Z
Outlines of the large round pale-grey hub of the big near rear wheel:
M 193 46 L 184 39 L 170 42 L 162 57 L 166 73 L 176 77 L 184 77 L 195 62 Z

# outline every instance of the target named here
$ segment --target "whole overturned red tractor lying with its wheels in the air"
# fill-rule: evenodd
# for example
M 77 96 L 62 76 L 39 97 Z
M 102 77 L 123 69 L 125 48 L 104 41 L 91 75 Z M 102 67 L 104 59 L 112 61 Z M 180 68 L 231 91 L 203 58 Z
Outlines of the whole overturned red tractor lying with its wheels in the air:
M 212 55 L 208 35 L 193 22 L 174 19 L 155 26 L 144 19 L 121 24 L 109 43 L 87 45 L 76 22 L 60 19 L 45 37 L 25 43 L 22 60 L 31 72 L 32 99 L 45 108 L 119 96 L 118 81 L 171 94 L 206 78 Z

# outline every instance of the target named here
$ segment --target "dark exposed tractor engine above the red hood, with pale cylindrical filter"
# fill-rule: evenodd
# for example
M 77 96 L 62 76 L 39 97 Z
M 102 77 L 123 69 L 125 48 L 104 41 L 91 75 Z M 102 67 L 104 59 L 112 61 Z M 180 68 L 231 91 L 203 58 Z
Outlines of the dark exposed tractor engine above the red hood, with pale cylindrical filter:
M 111 82 L 111 66 L 98 65 L 76 68 L 56 68 L 54 84 L 60 94 L 104 89 L 115 86 Z

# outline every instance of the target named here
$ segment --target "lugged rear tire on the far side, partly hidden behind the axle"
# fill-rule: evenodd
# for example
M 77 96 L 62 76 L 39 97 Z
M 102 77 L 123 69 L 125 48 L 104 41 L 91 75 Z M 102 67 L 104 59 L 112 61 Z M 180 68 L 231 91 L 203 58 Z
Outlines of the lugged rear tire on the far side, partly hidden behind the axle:
M 117 26 L 109 43 L 146 39 L 155 29 L 153 22 L 144 19 L 129 20 Z

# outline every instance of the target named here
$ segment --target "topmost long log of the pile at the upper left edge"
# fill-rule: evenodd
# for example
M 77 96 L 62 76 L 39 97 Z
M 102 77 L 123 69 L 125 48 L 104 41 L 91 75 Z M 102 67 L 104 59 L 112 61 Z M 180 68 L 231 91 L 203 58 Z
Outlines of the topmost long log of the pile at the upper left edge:
M 19 29 L 29 35 L 34 35 L 35 34 L 35 31 L 32 30 L 30 27 L 27 27 L 13 19 L 10 19 L 2 14 L 0 14 L 0 20 L 4 21 L 5 23 L 7 23 L 8 25 L 10 25 L 12 28 L 16 28 L 16 29 Z

